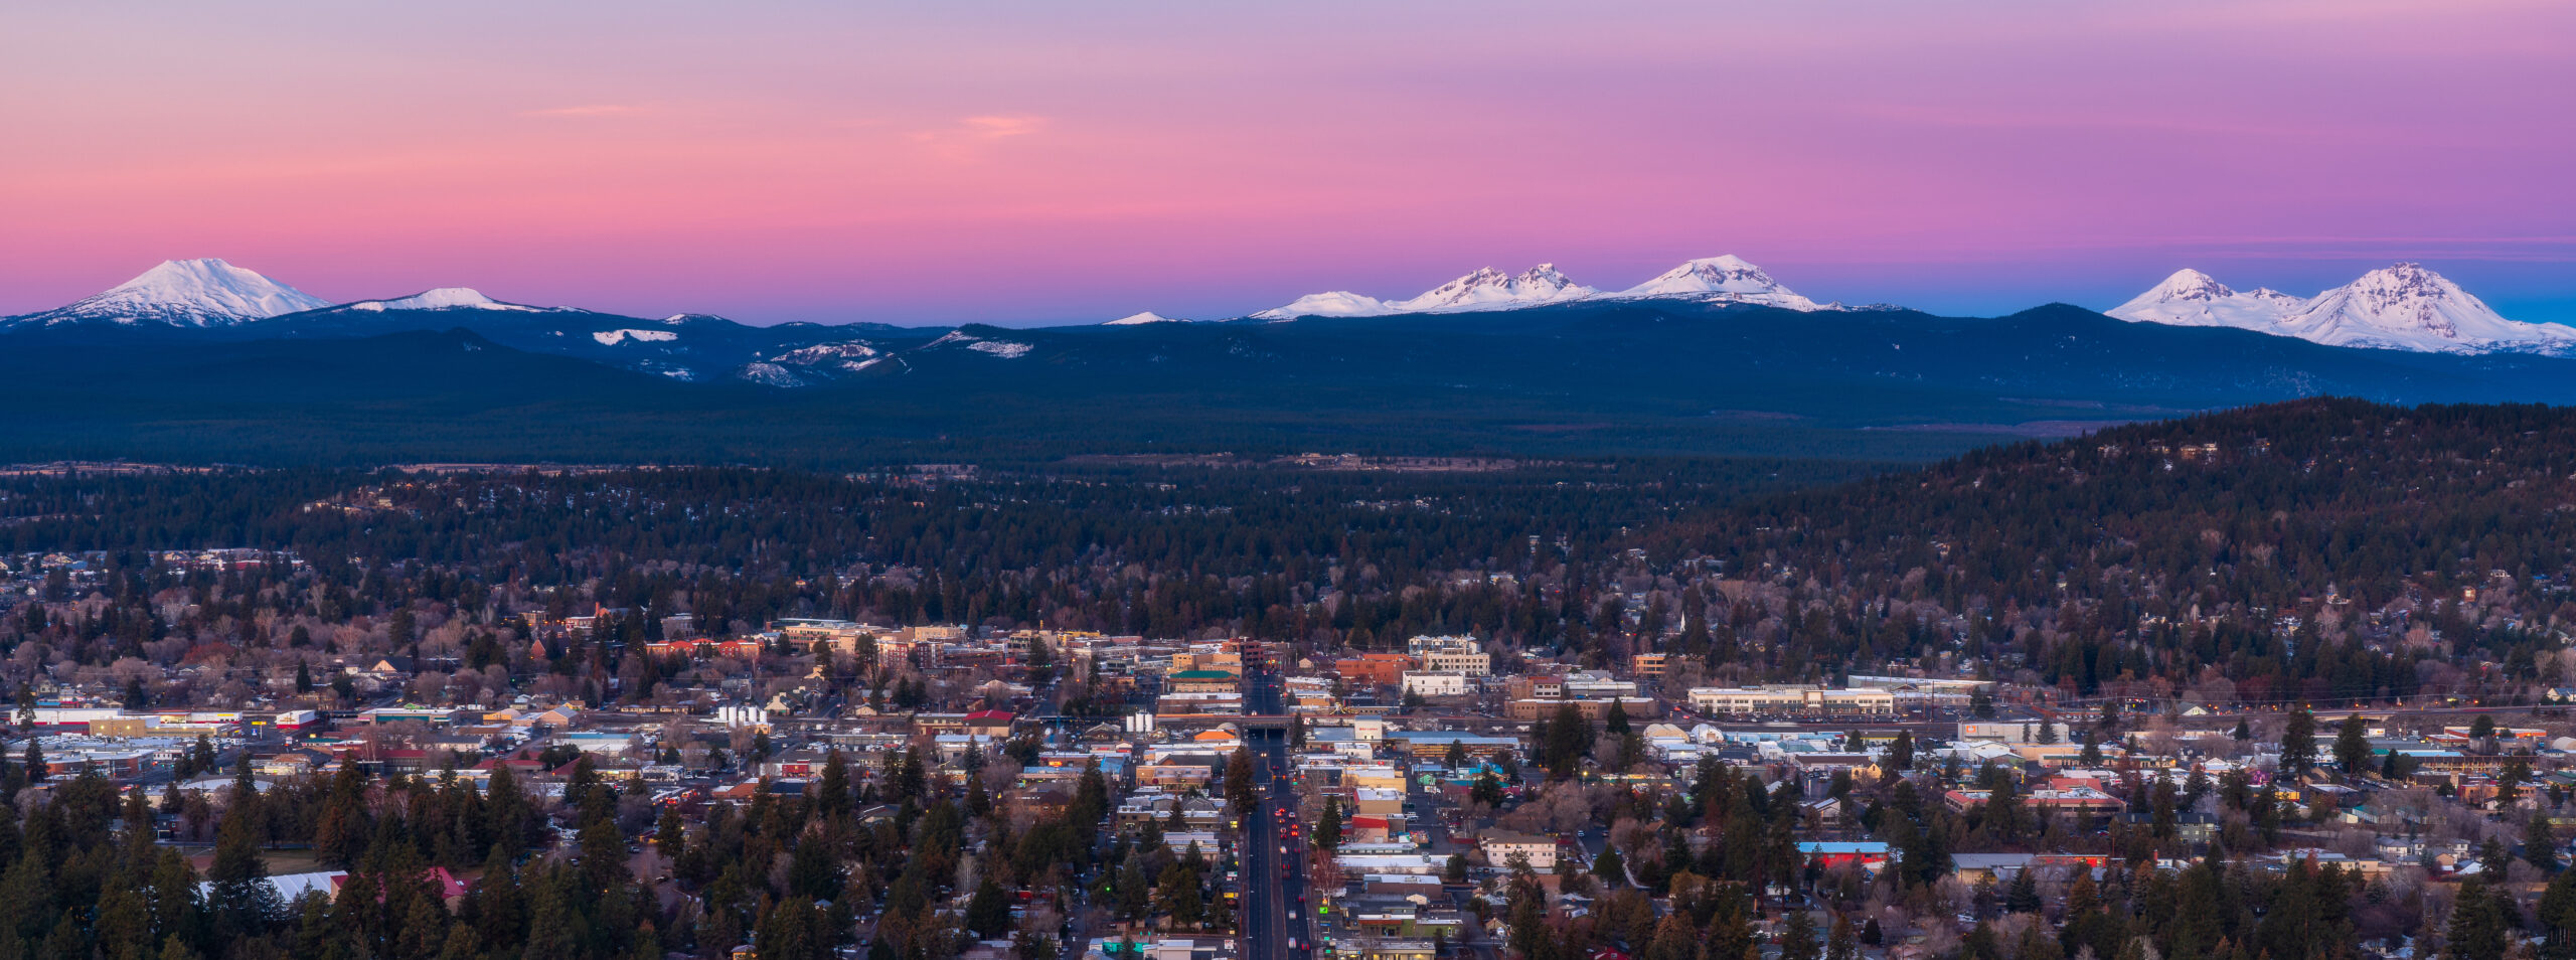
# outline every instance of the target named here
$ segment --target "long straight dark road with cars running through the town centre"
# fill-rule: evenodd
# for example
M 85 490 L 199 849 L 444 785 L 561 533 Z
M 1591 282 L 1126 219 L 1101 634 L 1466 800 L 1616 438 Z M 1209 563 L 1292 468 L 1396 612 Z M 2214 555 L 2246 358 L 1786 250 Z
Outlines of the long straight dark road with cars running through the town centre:
M 1278 713 L 1280 679 L 1260 667 L 1247 667 L 1244 695 L 1252 713 Z M 1303 839 L 1285 839 L 1285 821 L 1296 821 L 1296 790 L 1288 785 L 1288 741 L 1283 731 L 1247 731 L 1247 746 L 1262 780 L 1262 803 L 1244 818 L 1244 960 L 1309 960 L 1314 942 L 1309 934 Z M 1278 811 L 1288 811 L 1280 818 Z M 1288 847 L 1280 854 L 1280 847 Z M 1296 939 L 1296 950 L 1288 942 Z

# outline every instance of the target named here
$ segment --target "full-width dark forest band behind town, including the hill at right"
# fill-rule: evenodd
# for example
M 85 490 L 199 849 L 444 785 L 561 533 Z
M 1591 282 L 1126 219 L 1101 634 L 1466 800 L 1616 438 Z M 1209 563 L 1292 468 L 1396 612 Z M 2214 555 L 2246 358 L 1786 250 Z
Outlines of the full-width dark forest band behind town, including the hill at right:
M 170 587 L 224 587 L 178 628 L 227 633 L 572 584 L 564 605 L 685 605 L 714 631 L 778 615 L 1352 646 L 1473 631 L 1600 661 L 1669 649 L 1731 679 L 1984 669 L 2076 697 L 2367 700 L 2566 674 L 2568 409 L 2313 399 L 1855 474 L 1566 461 L 10 479 L 0 548 L 108 551 L 111 602 L 70 651 L 111 659 L 118 610 Z M 211 546 L 294 548 L 317 574 L 147 574 L 142 551 Z

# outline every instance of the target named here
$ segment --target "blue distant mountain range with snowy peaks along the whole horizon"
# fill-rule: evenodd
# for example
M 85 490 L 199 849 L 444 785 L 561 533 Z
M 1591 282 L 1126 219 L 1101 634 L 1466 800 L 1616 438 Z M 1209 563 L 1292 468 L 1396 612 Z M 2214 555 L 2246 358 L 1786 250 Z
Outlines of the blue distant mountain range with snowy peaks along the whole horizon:
M 2558 324 L 2416 265 L 2295 299 L 2179 273 L 2115 317 L 1816 304 L 1739 257 L 1597 291 L 1476 270 L 1226 322 L 621 317 L 471 288 L 325 304 L 175 260 L 0 322 L 18 458 L 799 461 L 1105 450 L 1922 458 L 2316 394 L 2576 404 Z M 1316 304 L 1376 304 L 1327 314 Z

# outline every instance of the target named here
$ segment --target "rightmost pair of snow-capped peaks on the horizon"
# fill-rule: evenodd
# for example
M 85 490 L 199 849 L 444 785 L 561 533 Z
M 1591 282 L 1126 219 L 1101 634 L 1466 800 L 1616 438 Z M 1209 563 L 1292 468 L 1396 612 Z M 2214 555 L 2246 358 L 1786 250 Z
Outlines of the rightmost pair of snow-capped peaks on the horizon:
M 2524 324 L 2496 314 L 2450 278 L 2419 263 L 2362 273 L 2313 299 L 2280 291 L 2231 291 L 2200 270 L 2179 270 L 2154 291 L 2112 306 L 2110 317 L 2239 327 L 2329 347 L 2414 353 L 2576 353 L 2576 327 Z

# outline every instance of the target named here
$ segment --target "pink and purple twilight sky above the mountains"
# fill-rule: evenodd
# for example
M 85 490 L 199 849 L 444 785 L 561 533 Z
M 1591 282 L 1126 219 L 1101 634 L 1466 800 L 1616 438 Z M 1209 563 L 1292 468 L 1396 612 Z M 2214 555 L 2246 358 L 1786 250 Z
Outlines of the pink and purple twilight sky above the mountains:
M 744 322 L 1234 317 L 1736 252 L 2576 319 L 2576 5 L 232 3 L 0 31 L 0 314 L 167 257 Z

